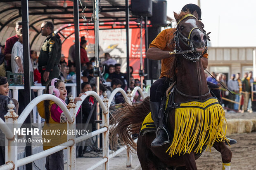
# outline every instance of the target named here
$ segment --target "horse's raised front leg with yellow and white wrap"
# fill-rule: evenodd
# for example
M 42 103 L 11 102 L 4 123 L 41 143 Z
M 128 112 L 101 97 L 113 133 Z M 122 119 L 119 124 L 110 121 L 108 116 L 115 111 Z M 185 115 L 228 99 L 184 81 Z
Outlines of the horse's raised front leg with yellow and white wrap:
M 221 153 L 223 170 L 230 170 L 232 152 L 228 149 L 225 142 L 214 142 L 213 147 Z

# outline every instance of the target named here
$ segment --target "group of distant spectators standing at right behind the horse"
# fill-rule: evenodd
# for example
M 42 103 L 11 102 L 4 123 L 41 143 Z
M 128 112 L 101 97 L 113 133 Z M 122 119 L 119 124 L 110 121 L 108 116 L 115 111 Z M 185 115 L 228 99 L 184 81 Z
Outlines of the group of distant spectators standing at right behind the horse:
M 211 72 L 214 78 L 206 73 L 206 80 L 219 86 L 222 106 L 228 109 L 228 112 L 252 112 L 251 83 L 254 82 L 252 74 L 251 71 L 245 72 L 241 77 L 238 72 L 228 79 L 226 74 Z

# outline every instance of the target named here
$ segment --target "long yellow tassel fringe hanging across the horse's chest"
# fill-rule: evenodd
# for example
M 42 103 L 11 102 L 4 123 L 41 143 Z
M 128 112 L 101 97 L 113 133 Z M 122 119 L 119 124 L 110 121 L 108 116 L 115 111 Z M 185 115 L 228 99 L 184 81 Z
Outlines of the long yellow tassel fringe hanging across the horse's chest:
M 205 110 L 193 107 L 176 108 L 173 142 L 166 153 L 169 151 L 171 157 L 175 154 L 190 154 L 191 151 L 201 153 L 205 145 L 206 151 L 211 151 L 215 141 L 226 140 L 227 123 L 224 132 L 224 121 L 225 112 L 219 104 L 211 105 Z

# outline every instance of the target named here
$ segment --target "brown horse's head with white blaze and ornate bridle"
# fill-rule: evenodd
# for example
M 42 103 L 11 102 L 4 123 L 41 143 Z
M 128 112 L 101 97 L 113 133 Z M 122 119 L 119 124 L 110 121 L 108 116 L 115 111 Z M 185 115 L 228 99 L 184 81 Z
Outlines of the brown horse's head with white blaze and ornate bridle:
M 196 11 L 193 14 L 188 12 L 176 14 L 174 12 L 174 17 L 178 23 L 175 33 L 175 49 L 183 56 L 185 53 L 192 53 L 192 56 L 188 56 L 198 60 L 207 47 L 206 40 L 208 35 L 203 30 L 204 24 L 198 20 Z

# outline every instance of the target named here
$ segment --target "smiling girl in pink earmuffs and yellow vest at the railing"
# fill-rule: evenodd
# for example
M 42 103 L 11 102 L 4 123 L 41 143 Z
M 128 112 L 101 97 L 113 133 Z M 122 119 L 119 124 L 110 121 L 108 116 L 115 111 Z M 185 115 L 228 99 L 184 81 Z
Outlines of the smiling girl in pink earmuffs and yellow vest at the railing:
M 53 94 L 57 96 L 59 99 L 62 100 L 62 102 L 66 105 L 65 100 L 67 96 L 67 91 L 65 84 L 62 80 L 59 79 L 52 79 L 46 86 L 46 90 L 44 92 L 45 94 Z M 85 93 L 80 93 L 79 97 L 76 97 L 74 99 L 74 104 L 78 100 L 81 100 L 81 95 Z M 52 126 L 60 125 L 59 123 L 65 123 L 66 124 L 66 116 L 64 115 L 64 112 L 62 109 L 52 100 L 45 100 L 37 105 L 38 112 L 42 118 L 45 119 L 45 124 L 43 127 L 43 130 L 49 130 L 52 129 Z M 78 110 L 79 112 L 79 110 Z M 51 128 L 50 128 L 51 126 Z M 61 125 L 60 125 L 61 126 Z M 60 127 L 59 126 L 59 127 Z M 63 126 L 66 128 L 66 126 Z M 62 128 L 61 128 L 62 129 Z M 62 129 L 63 130 L 63 129 Z M 45 139 L 51 139 L 51 144 L 43 143 L 43 150 L 50 149 L 55 146 L 64 143 L 67 141 L 66 135 L 44 135 L 42 134 L 42 138 Z M 47 170 L 64 170 L 64 160 L 63 160 L 63 150 L 58 151 L 54 154 L 51 154 L 46 157 L 46 163 L 45 168 Z

